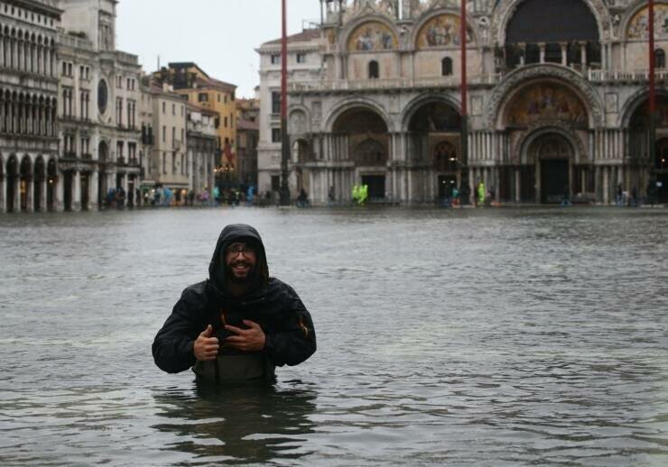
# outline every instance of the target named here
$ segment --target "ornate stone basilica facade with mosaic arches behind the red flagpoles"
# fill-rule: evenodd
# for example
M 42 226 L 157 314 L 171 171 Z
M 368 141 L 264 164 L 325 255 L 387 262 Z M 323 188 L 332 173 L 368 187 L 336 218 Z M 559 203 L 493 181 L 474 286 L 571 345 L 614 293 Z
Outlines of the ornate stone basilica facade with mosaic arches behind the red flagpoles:
M 666 200 L 668 3 L 655 2 L 653 154 L 645 1 L 470 0 L 467 154 L 459 2 L 322 5 L 319 34 L 300 44 L 318 50 L 319 68 L 290 79 L 292 194 L 305 188 L 325 203 L 333 188 L 345 202 L 366 183 L 372 199 L 423 204 L 483 181 L 504 202 L 608 204 L 618 190 L 645 197 L 658 181 Z M 280 145 L 270 141 L 277 115 L 264 104 L 278 86 L 272 47 L 259 50 L 260 190 L 280 168 Z M 289 60 L 298 53 L 290 48 Z

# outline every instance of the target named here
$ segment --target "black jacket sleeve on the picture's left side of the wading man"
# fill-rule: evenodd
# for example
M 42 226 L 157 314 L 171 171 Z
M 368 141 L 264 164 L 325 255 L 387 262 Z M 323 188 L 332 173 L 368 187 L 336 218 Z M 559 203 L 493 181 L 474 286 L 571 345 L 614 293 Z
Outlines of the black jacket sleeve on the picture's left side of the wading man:
M 201 309 L 191 296 L 188 289 L 183 291 L 172 315 L 153 340 L 153 360 L 162 371 L 178 373 L 195 364 L 192 348 L 204 327 L 200 318 Z

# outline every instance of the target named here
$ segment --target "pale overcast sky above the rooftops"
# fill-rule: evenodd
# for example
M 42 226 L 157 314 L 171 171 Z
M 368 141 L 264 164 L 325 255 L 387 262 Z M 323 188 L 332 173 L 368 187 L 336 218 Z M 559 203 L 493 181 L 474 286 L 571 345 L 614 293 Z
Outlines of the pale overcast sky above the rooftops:
M 320 0 L 287 0 L 288 34 L 320 22 Z M 116 48 L 139 56 L 144 71 L 194 61 L 210 77 L 253 96 L 260 84 L 255 49 L 281 37 L 281 0 L 120 0 Z

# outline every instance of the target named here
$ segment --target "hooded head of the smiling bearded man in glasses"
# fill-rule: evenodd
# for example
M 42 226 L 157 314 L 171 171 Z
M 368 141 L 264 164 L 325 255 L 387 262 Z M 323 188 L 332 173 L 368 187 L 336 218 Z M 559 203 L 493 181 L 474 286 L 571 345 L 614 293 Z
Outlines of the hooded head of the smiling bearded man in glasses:
M 223 229 L 209 264 L 209 279 L 221 291 L 227 291 L 229 283 L 254 289 L 269 281 L 264 243 L 255 228 L 230 224 Z

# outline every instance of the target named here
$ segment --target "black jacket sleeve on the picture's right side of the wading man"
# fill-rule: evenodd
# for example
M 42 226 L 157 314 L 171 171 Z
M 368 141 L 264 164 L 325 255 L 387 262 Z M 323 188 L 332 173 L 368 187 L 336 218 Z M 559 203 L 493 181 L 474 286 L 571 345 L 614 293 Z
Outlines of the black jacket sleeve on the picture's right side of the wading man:
M 277 332 L 266 334 L 264 352 L 276 366 L 297 365 L 316 350 L 315 329 L 311 314 L 297 293 L 288 289 L 289 298 L 281 312 L 282 325 Z

